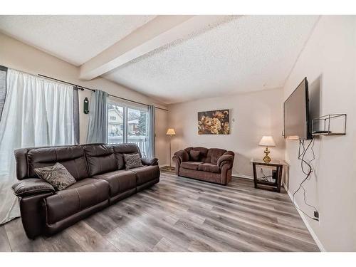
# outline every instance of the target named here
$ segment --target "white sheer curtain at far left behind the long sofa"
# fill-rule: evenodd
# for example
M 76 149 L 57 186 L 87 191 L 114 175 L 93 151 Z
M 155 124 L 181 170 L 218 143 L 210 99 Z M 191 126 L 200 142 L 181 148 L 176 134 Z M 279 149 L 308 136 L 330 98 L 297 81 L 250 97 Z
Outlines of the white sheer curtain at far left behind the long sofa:
M 0 120 L 0 224 L 19 216 L 14 150 L 73 145 L 73 87 L 9 69 Z

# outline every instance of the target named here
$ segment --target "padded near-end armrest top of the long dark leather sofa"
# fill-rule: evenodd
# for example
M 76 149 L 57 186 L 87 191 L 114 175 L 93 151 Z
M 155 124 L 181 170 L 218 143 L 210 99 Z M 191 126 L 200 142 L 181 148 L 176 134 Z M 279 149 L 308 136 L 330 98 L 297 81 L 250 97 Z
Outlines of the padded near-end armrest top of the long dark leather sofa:
M 25 197 L 56 191 L 50 183 L 38 178 L 21 180 L 20 182 L 14 184 L 11 188 L 17 197 Z

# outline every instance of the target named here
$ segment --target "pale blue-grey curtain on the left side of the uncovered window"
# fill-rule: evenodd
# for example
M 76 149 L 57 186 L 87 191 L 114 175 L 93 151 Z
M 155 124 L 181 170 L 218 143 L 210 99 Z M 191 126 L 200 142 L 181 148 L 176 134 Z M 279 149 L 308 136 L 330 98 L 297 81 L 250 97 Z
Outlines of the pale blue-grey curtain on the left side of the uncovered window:
M 108 96 L 101 90 L 91 94 L 87 143 L 108 142 Z

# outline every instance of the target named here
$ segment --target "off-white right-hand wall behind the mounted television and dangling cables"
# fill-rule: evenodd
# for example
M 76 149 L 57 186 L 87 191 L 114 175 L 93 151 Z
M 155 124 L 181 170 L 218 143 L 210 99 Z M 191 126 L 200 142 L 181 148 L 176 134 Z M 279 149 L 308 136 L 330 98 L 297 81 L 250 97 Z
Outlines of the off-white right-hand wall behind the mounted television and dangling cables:
M 307 219 L 326 251 L 356 251 L 356 17 L 322 16 L 283 88 L 284 99 L 308 78 L 310 103 L 318 98 L 320 114 L 347 113 L 347 135 L 315 140 L 315 174 L 305 183 L 310 204 L 318 207 L 320 222 Z M 316 94 L 318 95 L 318 94 Z M 289 191 L 293 193 L 305 177 L 297 159 L 298 141 L 286 141 L 286 160 L 290 163 Z M 311 155 L 308 154 L 308 159 Z M 303 193 L 296 201 L 304 211 Z

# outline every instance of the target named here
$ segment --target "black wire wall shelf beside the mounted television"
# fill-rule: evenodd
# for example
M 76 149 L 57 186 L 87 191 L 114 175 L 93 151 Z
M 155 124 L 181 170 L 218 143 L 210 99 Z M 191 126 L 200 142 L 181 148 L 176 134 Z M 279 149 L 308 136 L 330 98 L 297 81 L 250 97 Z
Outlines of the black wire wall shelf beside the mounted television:
M 312 135 L 346 135 L 346 117 L 343 114 L 328 114 L 312 120 Z

